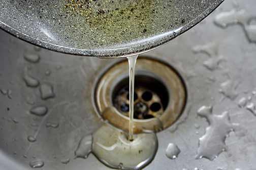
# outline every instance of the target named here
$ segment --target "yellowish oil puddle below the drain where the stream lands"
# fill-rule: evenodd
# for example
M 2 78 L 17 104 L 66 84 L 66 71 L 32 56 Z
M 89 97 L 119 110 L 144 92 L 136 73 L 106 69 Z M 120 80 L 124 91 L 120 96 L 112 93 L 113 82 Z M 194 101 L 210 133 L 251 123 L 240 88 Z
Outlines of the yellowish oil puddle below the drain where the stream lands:
M 93 155 L 113 168 L 122 165 L 122 169 L 142 169 L 153 160 L 158 145 L 155 134 L 134 135 L 130 141 L 122 131 L 106 124 L 93 134 L 92 142 Z

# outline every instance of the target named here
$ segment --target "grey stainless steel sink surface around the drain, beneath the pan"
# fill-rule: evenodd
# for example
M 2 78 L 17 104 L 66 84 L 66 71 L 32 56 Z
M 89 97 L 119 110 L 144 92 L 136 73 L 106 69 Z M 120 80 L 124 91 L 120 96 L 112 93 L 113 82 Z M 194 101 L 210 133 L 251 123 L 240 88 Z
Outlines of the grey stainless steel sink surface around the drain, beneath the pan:
M 145 169 L 256 168 L 256 117 L 238 105 L 243 97 L 251 97 L 249 102 L 256 102 L 256 46 L 249 42 L 241 25 L 223 29 L 214 23 L 218 14 L 233 9 L 245 9 L 252 17 L 256 16 L 255 1 L 237 4 L 224 2 L 195 28 L 144 55 L 175 67 L 183 77 L 188 93 L 180 118 L 170 128 L 157 133 L 158 151 Z M 73 57 L 51 52 L 4 31 L 0 31 L 0 37 L 0 169 L 29 169 L 29 162 L 36 159 L 44 161 L 40 169 L 109 169 L 92 154 L 87 159 L 74 159 L 74 151 L 81 137 L 91 134 L 103 123 L 94 110 L 93 89 L 102 71 L 119 59 Z M 205 48 L 208 48 L 208 54 L 201 53 Z M 40 61 L 25 60 L 27 54 L 39 55 Z M 40 85 L 27 87 L 24 74 L 37 78 Z M 223 82 L 228 80 L 234 86 L 223 89 Z M 54 97 L 41 99 L 42 84 L 53 87 Z M 228 92 L 235 95 L 231 97 Z M 232 132 L 227 137 L 228 150 L 213 161 L 195 158 L 199 138 L 209 126 L 197 114 L 203 105 L 212 105 L 213 114 L 228 111 L 230 121 L 239 123 L 243 129 L 243 135 Z M 29 110 L 36 106 L 46 106 L 47 114 L 31 114 Z M 58 125 L 53 127 L 49 123 Z M 35 137 L 36 141 L 29 142 L 28 136 Z M 169 143 L 175 143 L 181 150 L 175 160 L 165 155 Z M 68 158 L 69 163 L 61 163 Z

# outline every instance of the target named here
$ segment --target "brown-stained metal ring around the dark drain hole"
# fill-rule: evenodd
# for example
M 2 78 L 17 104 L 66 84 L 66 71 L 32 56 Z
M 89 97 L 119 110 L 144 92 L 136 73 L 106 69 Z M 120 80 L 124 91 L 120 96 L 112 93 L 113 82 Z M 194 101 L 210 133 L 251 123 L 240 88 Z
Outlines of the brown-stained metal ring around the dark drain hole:
M 94 92 L 94 104 L 99 115 L 119 129 L 128 131 L 129 118 L 121 114 L 112 101 L 112 95 L 117 84 L 128 76 L 127 61 L 121 61 L 110 67 L 103 74 Z M 164 62 L 139 58 L 136 65 L 136 75 L 145 75 L 162 81 L 168 90 L 169 102 L 161 116 L 150 119 L 135 119 L 134 132 L 143 130 L 161 131 L 172 125 L 180 116 L 186 103 L 186 89 L 177 72 Z

